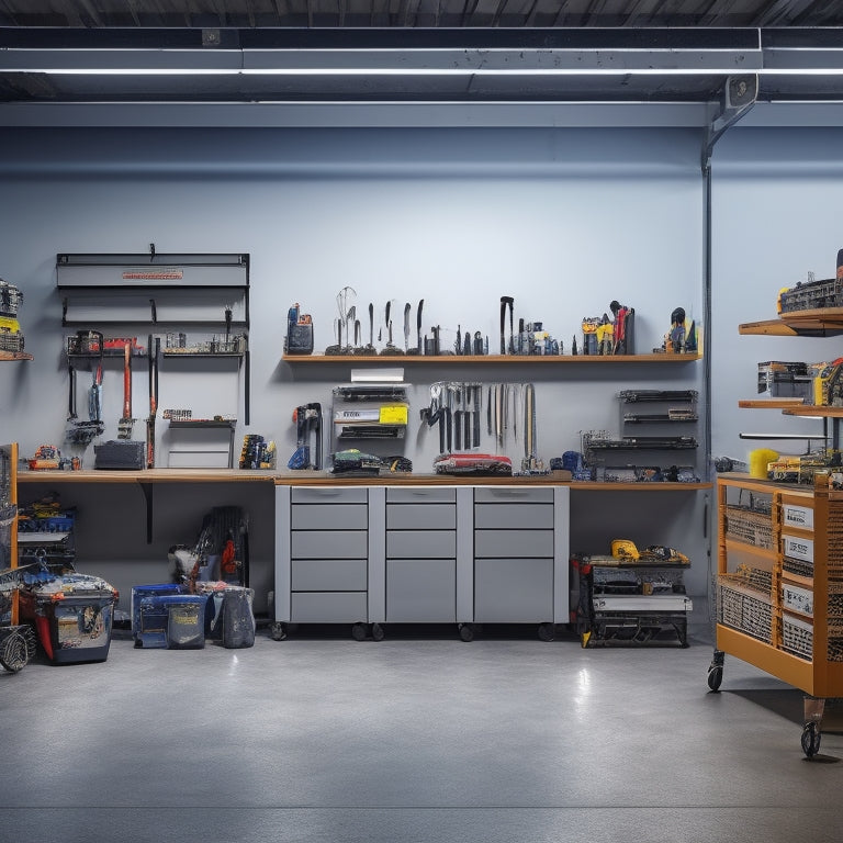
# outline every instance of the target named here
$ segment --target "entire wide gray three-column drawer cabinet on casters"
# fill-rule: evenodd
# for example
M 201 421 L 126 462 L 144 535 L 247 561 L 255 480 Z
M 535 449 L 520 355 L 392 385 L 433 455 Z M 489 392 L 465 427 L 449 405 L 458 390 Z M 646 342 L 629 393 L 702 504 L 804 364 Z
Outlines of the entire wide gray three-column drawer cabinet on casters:
M 567 622 L 569 490 L 276 486 L 273 637 L 296 622 Z

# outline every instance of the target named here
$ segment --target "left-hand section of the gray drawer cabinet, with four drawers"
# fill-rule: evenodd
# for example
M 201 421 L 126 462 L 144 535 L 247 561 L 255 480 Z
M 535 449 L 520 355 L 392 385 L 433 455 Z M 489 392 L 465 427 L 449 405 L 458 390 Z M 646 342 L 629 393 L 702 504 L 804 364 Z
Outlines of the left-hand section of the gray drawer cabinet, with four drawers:
M 283 638 L 286 623 L 351 623 L 355 638 L 364 637 L 383 591 L 382 531 L 370 522 L 374 512 L 382 524 L 382 501 L 379 488 L 276 487 L 273 637 Z

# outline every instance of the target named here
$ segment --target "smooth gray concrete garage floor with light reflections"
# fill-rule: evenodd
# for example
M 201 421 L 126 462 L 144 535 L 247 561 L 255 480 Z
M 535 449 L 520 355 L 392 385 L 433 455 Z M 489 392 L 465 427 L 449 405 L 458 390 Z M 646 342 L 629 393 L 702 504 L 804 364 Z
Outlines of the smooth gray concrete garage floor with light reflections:
M 836 841 L 843 734 L 711 644 L 300 631 L 0 675 L 0 840 Z M 833 713 L 833 711 L 832 711 Z

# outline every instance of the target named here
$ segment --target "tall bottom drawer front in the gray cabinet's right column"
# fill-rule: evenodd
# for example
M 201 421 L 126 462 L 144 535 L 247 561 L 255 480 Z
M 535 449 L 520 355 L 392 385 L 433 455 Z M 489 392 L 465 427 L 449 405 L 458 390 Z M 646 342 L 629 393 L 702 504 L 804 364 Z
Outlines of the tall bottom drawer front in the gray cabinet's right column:
M 553 560 L 479 559 L 474 620 L 543 623 L 553 620 Z

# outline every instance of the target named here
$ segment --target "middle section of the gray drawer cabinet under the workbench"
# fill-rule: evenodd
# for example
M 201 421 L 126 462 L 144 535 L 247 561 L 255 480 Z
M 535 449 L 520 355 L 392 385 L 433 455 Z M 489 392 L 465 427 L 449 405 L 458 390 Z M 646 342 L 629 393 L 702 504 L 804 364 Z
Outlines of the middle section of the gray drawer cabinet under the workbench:
M 470 494 L 461 487 L 386 490 L 387 622 L 471 621 Z

